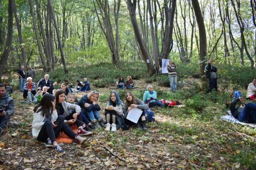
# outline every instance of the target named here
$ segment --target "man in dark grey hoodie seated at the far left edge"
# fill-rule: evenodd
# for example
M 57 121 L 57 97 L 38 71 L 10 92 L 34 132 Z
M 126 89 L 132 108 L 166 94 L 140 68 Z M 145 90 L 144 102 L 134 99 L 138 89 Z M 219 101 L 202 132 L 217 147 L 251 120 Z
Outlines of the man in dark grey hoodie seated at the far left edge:
M 4 84 L 0 83 L 0 136 L 7 128 L 7 123 L 14 113 L 14 100 L 6 93 Z

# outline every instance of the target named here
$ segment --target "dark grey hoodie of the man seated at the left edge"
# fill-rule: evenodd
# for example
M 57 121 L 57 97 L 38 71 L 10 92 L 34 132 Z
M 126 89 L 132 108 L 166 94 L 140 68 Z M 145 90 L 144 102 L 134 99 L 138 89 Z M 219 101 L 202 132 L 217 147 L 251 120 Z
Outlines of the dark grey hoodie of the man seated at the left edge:
M 4 109 L 8 116 L 13 115 L 14 113 L 14 100 L 9 96 L 8 93 L 5 94 L 2 98 L 0 98 L 0 107 Z

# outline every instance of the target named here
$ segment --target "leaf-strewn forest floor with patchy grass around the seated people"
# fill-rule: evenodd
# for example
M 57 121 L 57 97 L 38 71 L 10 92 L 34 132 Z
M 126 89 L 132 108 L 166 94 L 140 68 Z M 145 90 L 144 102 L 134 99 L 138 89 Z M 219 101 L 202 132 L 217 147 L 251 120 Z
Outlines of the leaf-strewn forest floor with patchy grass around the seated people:
M 144 91 L 147 83 L 136 84 L 141 88 L 134 91 Z M 113 89 L 97 88 L 102 107 L 106 106 L 102 99 L 108 99 Z M 84 94 L 77 93 L 78 98 Z M 82 145 L 63 144 L 66 154 L 59 156 L 32 138 L 34 105 L 22 104 L 20 92 L 11 96 L 15 99 L 11 122 L 18 125 L 0 137 L 0 169 L 242 169 L 244 161 L 256 160 L 255 129 L 222 122 L 220 116 L 226 112 L 219 104 L 202 114 L 184 114 L 185 107 L 155 108 L 158 123 L 148 123 L 147 131 L 97 129 Z

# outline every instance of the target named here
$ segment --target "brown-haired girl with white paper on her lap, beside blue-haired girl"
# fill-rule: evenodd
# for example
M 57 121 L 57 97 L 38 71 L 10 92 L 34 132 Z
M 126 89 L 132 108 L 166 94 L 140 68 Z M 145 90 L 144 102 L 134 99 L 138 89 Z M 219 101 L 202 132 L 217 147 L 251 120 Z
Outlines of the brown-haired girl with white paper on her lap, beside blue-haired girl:
M 148 105 L 144 104 L 143 101 L 136 99 L 135 96 L 131 92 L 126 93 L 125 101 L 126 102 L 123 105 L 123 112 L 124 112 L 125 118 L 127 117 L 128 112 L 132 108 L 138 108 L 138 109 L 142 110 L 143 112 L 141 114 L 141 117 L 139 117 L 136 127 L 138 129 L 141 129 L 141 126 L 139 124 L 142 123 L 142 129 L 147 130 L 145 110 L 148 110 Z M 134 124 L 130 120 L 129 120 L 129 122 L 130 122 L 130 125 Z

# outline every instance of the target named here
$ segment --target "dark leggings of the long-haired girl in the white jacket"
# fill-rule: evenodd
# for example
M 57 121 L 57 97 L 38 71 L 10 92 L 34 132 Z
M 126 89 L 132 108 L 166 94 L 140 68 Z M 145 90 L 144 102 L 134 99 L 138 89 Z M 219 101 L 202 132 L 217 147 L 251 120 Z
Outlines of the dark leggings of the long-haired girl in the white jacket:
M 73 130 L 64 123 L 64 117 L 59 116 L 57 118 L 58 125 L 56 127 L 53 127 L 53 123 L 51 123 L 51 120 L 46 120 L 37 136 L 37 140 L 41 142 L 45 142 L 46 139 L 49 137 L 51 142 L 56 141 L 56 137 L 59 136 L 60 132 L 64 132 L 68 137 L 74 139 L 75 133 Z

